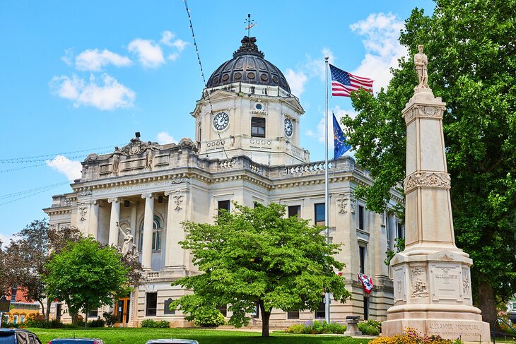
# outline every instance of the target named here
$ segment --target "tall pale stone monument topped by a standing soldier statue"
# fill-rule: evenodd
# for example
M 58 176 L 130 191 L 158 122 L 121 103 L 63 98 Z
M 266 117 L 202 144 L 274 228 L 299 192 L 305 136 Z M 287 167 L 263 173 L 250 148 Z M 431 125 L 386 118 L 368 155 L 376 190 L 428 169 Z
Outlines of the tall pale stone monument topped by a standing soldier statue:
M 423 46 L 414 56 L 419 84 L 406 103 L 405 250 L 391 261 L 394 306 L 382 335 L 415 328 L 428 336 L 488 342 L 489 325 L 473 307 L 469 255 L 455 246 L 450 174 L 442 114 L 445 103 L 428 87 Z

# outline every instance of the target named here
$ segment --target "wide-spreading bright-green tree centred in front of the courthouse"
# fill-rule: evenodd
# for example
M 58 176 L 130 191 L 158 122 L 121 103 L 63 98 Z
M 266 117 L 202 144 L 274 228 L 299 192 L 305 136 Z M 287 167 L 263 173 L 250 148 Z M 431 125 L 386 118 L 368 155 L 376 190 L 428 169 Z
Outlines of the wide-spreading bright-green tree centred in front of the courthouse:
M 262 336 L 269 336 L 271 309 L 317 309 L 324 290 L 345 302 L 351 294 L 344 287 L 344 264 L 334 259 L 339 244 L 327 244 L 323 227 L 307 220 L 285 218 L 285 207 L 276 203 L 247 208 L 235 203 L 235 210 L 221 210 L 214 225 L 183 223 L 187 231 L 184 249 L 192 251 L 200 275 L 177 280 L 194 290 L 171 304 L 180 306 L 194 319 L 199 307 L 214 309 L 228 304 L 233 312 L 229 323 L 248 324 L 246 314 L 259 308 Z

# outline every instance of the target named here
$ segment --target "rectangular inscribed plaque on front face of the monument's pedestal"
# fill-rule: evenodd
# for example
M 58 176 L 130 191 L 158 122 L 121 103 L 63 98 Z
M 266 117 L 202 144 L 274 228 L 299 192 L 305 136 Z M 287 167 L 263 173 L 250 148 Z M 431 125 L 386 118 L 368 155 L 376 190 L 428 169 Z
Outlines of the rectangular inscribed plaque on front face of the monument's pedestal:
M 432 299 L 456 300 L 462 298 L 462 268 L 459 263 L 430 263 Z

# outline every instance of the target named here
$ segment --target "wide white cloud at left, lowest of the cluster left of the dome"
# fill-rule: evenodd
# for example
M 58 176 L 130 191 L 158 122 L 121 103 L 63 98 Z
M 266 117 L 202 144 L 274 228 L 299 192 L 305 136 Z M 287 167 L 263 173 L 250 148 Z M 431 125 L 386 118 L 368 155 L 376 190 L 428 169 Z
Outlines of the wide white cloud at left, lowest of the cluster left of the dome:
M 89 81 L 69 76 L 54 76 L 49 83 L 59 97 L 72 100 L 74 107 L 91 106 L 101 110 L 132 107 L 136 97 L 133 90 L 119 83 L 112 76 L 102 74 L 101 83 L 92 75 Z

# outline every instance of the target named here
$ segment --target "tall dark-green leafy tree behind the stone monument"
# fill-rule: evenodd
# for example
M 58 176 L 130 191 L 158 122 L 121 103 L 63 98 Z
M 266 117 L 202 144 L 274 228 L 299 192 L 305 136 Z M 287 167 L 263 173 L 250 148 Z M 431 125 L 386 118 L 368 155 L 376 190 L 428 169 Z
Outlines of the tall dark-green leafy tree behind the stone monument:
M 432 16 L 414 9 L 400 37 L 411 56 L 425 45 L 428 84 L 447 102 L 443 130 L 455 239 L 474 260 L 474 302 L 490 323 L 496 302 L 505 302 L 516 285 L 514 18 L 515 0 L 437 0 Z M 411 59 L 401 59 L 392 74 L 377 97 L 365 91 L 352 97 L 359 114 L 343 120 L 358 163 L 374 180 L 357 194 L 377 212 L 404 178 L 401 109 L 418 83 Z

